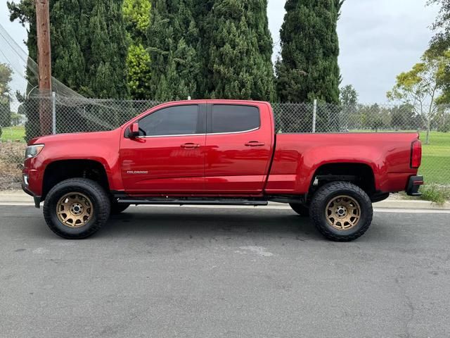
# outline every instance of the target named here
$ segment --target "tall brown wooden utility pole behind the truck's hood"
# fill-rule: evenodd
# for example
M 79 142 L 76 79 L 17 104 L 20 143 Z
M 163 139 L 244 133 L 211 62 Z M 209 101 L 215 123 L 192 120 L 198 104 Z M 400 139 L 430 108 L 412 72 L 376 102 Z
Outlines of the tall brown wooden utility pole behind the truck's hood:
M 41 135 L 51 134 L 51 49 L 49 0 L 36 0 L 37 64 L 39 68 L 39 121 Z

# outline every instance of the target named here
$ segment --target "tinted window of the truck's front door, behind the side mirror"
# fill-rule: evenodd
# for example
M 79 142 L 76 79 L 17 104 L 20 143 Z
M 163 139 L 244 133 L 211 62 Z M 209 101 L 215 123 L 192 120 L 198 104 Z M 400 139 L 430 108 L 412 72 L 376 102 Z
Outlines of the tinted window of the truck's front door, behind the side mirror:
M 196 134 L 198 105 L 162 108 L 139 120 L 140 136 Z

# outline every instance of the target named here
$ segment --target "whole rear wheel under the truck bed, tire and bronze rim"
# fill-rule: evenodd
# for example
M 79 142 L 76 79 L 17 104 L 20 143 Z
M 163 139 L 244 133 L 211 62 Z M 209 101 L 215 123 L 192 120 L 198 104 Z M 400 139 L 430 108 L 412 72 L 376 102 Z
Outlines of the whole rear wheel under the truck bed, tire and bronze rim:
M 373 207 L 366 192 L 355 184 L 331 182 L 312 196 L 309 213 L 317 230 L 327 239 L 350 242 L 370 227 Z

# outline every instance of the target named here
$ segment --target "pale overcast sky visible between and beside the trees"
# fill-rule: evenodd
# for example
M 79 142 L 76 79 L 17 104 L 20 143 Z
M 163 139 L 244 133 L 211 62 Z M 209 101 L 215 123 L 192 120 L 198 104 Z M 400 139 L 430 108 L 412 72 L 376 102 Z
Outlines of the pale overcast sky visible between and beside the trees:
M 387 101 L 386 92 L 394 85 L 396 75 L 420 61 L 432 37 L 429 27 L 438 10 L 425 3 L 426 0 L 345 1 L 338 23 L 342 86 L 352 84 L 361 103 Z M 274 60 L 279 53 L 284 4 L 284 0 L 269 0 L 269 28 L 276 44 Z M 0 0 L 0 24 L 25 49 L 25 28 L 10 23 L 6 0 Z M 0 50 L 3 48 L 0 46 Z M 4 62 L 2 54 L 0 62 Z M 15 74 L 11 87 L 24 86 L 23 78 Z

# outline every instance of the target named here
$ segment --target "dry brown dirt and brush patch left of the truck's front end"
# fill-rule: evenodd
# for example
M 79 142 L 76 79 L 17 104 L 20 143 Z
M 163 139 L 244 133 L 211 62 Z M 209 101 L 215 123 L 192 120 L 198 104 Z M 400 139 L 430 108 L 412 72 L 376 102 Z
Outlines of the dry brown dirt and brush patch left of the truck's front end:
M 23 143 L 0 143 L 0 190 L 20 189 L 20 166 L 23 164 L 25 146 Z

